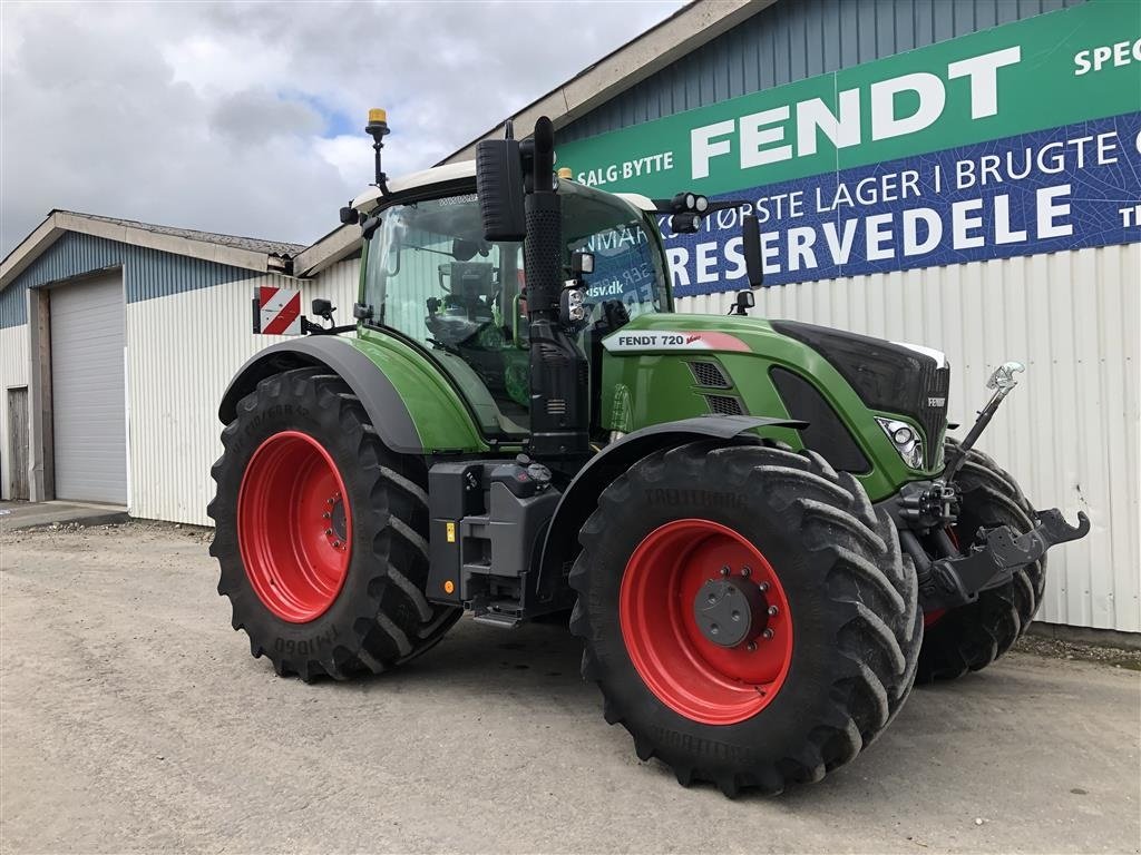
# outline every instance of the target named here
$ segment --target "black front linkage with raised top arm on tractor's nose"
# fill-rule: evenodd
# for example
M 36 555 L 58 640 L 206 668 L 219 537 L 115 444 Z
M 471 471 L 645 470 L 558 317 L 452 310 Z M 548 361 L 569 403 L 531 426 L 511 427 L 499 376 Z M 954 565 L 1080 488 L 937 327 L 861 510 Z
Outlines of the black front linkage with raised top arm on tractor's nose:
M 942 478 L 909 483 L 883 503 L 899 529 L 900 545 L 915 562 L 924 612 L 974 602 L 980 591 L 1005 585 L 1018 568 L 1037 561 L 1052 546 L 1078 540 L 1090 532 L 1085 513 L 1078 511 L 1078 524 L 1070 526 L 1054 507 L 1036 511 L 1035 527 L 1021 535 L 1010 526 L 986 528 L 978 532 L 974 543 L 962 548 L 948 535 L 960 512 L 955 477 L 998 406 L 1018 385 L 1014 375 L 1023 370 L 1020 363 L 1005 363 L 990 375 L 987 381 L 987 388 L 994 390 L 990 400 L 947 461 Z M 921 538 L 932 544 L 940 557 L 932 560 Z

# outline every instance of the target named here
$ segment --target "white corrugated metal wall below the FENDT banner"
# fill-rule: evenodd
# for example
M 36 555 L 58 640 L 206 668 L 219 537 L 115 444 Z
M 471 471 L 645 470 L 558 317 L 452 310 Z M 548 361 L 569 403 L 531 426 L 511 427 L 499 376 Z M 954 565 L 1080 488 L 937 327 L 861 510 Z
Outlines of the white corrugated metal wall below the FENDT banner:
M 1038 506 L 1093 530 L 1055 548 L 1041 620 L 1141 632 L 1139 306 L 1141 244 L 762 288 L 754 314 L 946 351 L 950 418 L 964 425 L 989 373 L 1026 364 L 979 447 Z M 734 294 L 685 298 L 723 315 Z

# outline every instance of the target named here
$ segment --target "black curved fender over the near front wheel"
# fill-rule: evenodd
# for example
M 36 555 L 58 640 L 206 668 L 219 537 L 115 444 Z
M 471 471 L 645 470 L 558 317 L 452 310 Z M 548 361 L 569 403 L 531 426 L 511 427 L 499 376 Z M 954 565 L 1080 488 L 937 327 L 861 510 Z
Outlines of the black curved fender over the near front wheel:
M 766 427 L 807 427 L 807 422 L 763 416 L 698 416 L 633 431 L 590 458 L 563 492 L 543 540 L 536 587 L 544 598 L 557 595 L 563 564 L 578 552 L 578 530 L 598 506 L 598 497 L 615 478 L 642 457 L 702 439 L 755 441 Z M 739 439 L 738 439 L 739 438 Z

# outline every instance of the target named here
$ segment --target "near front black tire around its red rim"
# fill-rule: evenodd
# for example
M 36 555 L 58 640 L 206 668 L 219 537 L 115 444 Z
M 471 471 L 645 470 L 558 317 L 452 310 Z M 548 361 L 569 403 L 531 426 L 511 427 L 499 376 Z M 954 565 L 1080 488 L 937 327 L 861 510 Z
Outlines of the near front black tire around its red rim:
M 787 676 L 738 723 L 704 724 L 663 703 L 623 641 L 628 561 L 649 532 L 686 518 L 744 536 L 788 603 Z M 570 628 L 584 643 L 583 676 L 638 756 L 663 760 L 683 785 L 712 781 L 731 797 L 819 781 L 871 744 L 911 691 L 923 634 L 914 567 L 888 515 L 819 455 L 704 442 L 650 455 L 602 492 L 580 539 Z

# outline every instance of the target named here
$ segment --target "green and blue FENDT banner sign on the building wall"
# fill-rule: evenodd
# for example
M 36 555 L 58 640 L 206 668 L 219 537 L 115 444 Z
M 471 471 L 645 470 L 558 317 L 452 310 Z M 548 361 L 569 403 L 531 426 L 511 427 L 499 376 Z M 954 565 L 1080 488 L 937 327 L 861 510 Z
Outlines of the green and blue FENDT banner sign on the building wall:
M 742 199 L 662 220 L 681 296 L 1141 241 L 1141 10 L 1065 11 L 559 146 L 577 180 Z

